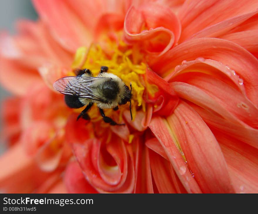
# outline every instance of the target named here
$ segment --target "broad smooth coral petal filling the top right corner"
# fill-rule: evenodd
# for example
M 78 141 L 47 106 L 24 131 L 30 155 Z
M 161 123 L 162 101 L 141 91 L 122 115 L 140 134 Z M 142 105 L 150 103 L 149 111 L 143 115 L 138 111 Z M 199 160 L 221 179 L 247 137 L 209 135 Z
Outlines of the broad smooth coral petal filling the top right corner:
M 234 16 L 254 12 L 258 2 L 248 1 L 185 1 L 179 12 L 182 24 L 180 42 L 194 33 Z M 225 12 L 226 11 L 226 12 Z

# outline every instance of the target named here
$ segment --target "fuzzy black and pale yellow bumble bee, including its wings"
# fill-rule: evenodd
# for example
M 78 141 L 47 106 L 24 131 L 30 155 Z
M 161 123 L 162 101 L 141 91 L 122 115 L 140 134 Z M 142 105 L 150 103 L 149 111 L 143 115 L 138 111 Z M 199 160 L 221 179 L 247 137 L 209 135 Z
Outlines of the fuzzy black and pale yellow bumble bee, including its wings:
M 110 125 L 118 124 L 111 118 L 105 116 L 104 108 L 113 108 L 118 110 L 118 105 L 130 102 L 131 119 L 131 98 L 132 85 L 130 88 L 125 85 L 122 79 L 114 74 L 108 73 L 108 67 L 102 66 L 97 77 L 93 77 L 91 70 L 80 69 L 76 71 L 77 76 L 63 77 L 55 81 L 54 88 L 62 94 L 65 94 L 65 103 L 69 108 L 86 108 L 79 114 L 79 118 L 90 120 L 87 111 L 93 103 L 96 103 L 105 123 Z

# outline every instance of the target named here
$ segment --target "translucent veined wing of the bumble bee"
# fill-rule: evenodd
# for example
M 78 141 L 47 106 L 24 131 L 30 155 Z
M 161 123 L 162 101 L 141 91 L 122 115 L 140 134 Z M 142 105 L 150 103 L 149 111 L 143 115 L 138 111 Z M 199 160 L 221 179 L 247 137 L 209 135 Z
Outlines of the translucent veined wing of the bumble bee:
M 63 77 L 55 81 L 54 88 L 62 94 L 68 94 L 93 100 L 101 100 L 93 94 L 92 84 L 100 77 Z

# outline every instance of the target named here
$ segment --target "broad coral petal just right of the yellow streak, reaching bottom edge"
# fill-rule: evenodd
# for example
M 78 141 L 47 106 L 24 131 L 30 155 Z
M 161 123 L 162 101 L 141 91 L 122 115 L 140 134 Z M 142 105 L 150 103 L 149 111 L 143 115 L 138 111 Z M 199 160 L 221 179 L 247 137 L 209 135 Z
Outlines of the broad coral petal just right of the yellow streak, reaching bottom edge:
M 234 192 L 218 142 L 196 111 L 181 102 L 167 121 L 202 191 Z

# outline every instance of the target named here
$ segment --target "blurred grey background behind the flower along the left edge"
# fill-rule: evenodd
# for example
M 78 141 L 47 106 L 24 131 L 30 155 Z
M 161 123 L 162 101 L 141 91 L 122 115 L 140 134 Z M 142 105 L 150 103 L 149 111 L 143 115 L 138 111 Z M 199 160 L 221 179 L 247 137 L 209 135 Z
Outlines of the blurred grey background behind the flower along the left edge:
M 20 18 L 36 20 L 35 12 L 30 0 L 0 0 L 0 30 L 9 31 L 15 34 L 15 22 Z M 10 93 L 5 91 L 0 84 L 0 104 Z M 1 106 L 0 106 L 1 108 Z M 0 128 L 2 127 L 2 118 L 0 116 Z M 5 150 L 5 144 L 0 142 L 0 154 Z

